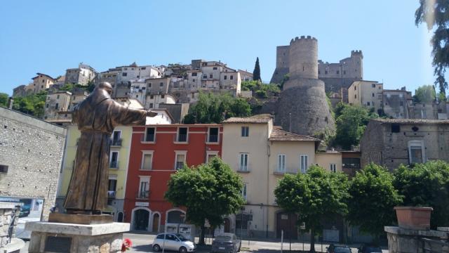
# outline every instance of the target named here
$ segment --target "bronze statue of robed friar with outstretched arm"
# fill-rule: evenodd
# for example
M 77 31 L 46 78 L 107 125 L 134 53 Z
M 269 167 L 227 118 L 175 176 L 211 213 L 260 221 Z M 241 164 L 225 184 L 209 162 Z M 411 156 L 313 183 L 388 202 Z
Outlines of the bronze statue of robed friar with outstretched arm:
M 145 125 L 155 112 L 127 108 L 111 98 L 112 85 L 99 84 L 76 105 L 72 122 L 81 131 L 64 207 L 69 214 L 100 214 L 107 206 L 109 148 L 116 126 Z

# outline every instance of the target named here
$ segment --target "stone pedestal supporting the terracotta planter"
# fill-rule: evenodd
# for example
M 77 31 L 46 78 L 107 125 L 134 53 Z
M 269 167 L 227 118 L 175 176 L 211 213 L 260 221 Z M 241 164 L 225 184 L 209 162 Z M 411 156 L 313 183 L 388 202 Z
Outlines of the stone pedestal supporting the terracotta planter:
M 446 231 L 422 231 L 386 226 L 388 251 L 390 253 L 449 253 L 449 233 Z

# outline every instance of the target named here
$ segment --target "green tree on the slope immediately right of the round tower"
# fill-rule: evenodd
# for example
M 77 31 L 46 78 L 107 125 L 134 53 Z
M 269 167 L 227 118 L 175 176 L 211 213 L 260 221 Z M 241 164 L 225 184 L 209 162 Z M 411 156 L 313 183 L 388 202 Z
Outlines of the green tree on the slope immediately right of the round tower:
M 345 149 L 351 148 L 351 145 L 358 145 L 369 120 L 379 117 L 373 110 L 359 105 L 343 106 L 339 113 L 340 116 L 335 121 L 337 124 L 335 144 Z

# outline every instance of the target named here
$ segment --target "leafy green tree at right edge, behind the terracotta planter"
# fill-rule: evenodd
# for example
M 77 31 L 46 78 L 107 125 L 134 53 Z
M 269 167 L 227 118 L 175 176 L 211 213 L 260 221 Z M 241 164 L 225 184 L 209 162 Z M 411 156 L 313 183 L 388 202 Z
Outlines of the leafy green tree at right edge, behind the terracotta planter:
M 431 227 L 449 226 L 449 164 L 431 161 L 401 165 L 394 171 L 394 186 L 404 196 L 403 205 L 433 207 Z

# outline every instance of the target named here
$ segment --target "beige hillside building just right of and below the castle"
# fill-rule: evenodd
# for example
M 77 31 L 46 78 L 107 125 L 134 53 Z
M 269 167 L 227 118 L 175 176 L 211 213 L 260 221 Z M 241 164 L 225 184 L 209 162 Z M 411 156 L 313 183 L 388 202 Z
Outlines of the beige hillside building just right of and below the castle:
M 375 81 L 354 81 L 348 88 L 349 105 L 363 105 L 375 108 L 375 112 L 382 110 L 383 84 Z

